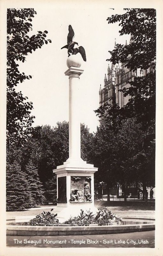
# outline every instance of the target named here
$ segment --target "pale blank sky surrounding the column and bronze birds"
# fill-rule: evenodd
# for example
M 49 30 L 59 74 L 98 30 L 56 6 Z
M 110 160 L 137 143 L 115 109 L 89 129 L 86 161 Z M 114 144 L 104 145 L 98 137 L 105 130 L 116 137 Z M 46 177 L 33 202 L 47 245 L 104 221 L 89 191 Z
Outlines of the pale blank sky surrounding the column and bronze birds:
M 92 8 L 93 7 L 93 8 Z M 117 43 L 129 42 L 130 35 L 119 36 L 118 24 L 109 25 L 107 18 L 112 14 L 123 13 L 123 9 L 110 9 L 109 4 L 63 4 L 54 3 L 34 7 L 37 15 L 32 18 L 32 31 L 47 30 L 47 39 L 52 43 L 45 44 L 41 49 L 32 51 L 24 63 L 18 62 L 19 71 L 31 75 L 32 79 L 17 86 L 24 96 L 32 101 L 35 116 L 34 124 L 56 126 L 57 122 L 68 121 L 68 77 L 64 72 L 67 49 L 68 25 L 71 24 L 75 36 L 74 41 L 82 45 L 86 51 L 87 61 L 82 63 L 84 69 L 80 76 L 81 123 L 96 132 L 99 125 L 94 110 L 99 107 L 100 84 L 103 87 L 107 74 L 109 50 Z M 78 53 L 79 54 L 79 53 Z

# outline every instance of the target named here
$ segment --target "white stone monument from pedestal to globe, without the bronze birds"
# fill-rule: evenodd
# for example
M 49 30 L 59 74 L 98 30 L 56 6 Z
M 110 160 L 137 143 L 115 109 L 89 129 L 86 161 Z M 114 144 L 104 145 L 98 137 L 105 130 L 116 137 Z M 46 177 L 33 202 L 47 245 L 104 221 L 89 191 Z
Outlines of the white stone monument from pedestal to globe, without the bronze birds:
M 58 218 L 78 215 L 80 210 L 95 210 L 94 173 L 98 170 L 93 164 L 81 159 L 80 127 L 80 83 L 84 70 L 78 55 L 67 59 L 69 77 L 69 158 L 53 172 L 57 175 L 57 212 Z M 73 65 L 73 66 L 71 66 Z M 58 210 L 58 211 L 56 211 Z

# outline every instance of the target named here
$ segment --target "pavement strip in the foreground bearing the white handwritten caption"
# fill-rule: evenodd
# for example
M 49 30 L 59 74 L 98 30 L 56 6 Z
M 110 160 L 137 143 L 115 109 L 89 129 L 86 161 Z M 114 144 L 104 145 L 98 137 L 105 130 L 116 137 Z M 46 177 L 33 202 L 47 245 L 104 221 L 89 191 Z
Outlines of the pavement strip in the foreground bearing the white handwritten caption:
M 6 236 L 7 247 L 49 247 L 49 248 L 154 248 L 155 232 L 142 231 L 107 235 L 80 236 Z M 79 255 L 79 254 L 78 254 Z

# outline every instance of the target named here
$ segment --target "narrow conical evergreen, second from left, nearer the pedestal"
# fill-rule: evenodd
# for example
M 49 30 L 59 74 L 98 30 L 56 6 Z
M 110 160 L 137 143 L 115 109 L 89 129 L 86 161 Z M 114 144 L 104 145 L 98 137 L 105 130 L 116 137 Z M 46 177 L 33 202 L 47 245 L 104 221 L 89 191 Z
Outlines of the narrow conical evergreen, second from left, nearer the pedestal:
M 32 205 L 41 204 L 43 202 L 43 185 L 39 180 L 38 169 L 33 164 L 32 160 L 29 160 L 25 167 L 27 179 L 29 183 L 29 191 L 32 196 Z

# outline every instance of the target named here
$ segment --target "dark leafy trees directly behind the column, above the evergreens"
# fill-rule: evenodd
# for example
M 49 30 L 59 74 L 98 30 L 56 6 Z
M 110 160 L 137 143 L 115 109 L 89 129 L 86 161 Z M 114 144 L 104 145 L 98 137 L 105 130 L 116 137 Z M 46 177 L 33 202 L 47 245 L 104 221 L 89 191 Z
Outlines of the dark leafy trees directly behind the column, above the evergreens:
M 88 127 L 81 124 L 81 150 L 85 160 L 87 157 L 90 159 L 92 136 L 89 133 Z M 7 160 L 10 164 L 13 164 L 16 158 L 21 169 L 25 171 L 29 161 L 31 161 L 34 163 L 35 169 L 38 170 L 38 177 L 36 178 L 35 176 L 37 179 L 36 183 L 34 183 L 32 174 L 34 169 L 29 169 L 31 171 L 27 172 L 29 175 L 28 179 L 33 184 L 31 186 L 33 188 L 36 186 L 34 190 L 38 191 L 37 193 L 39 193 L 40 188 L 40 183 L 38 182 L 41 182 L 43 185 L 45 198 L 38 194 L 40 195 L 40 199 L 42 198 L 41 203 L 56 203 L 57 185 L 56 175 L 53 173 L 53 169 L 67 160 L 69 150 L 68 139 L 68 123 L 64 121 L 58 122 L 53 128 L 49 125 L 32 128 L 31 136 L 24 143 L 24 147 L 15 144 L 8 145 Z M 38 196 L 37 199 L 39 199 Z

